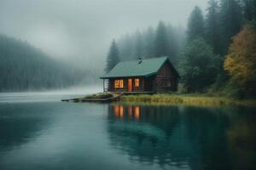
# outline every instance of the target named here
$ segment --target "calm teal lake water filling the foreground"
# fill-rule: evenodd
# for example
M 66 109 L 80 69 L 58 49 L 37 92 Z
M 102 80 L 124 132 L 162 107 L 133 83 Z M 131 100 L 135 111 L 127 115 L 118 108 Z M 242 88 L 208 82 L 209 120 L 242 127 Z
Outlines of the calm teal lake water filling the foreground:
M 1 170 L 256 169 L 256 108 L 61 103 L 61 95 L 0 94 Z

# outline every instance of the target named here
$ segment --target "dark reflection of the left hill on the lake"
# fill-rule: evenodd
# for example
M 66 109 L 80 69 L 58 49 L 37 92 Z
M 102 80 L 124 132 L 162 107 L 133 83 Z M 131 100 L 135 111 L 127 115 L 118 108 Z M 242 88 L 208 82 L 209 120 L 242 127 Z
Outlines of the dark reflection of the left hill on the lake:
M 46 104 L 41 106 L 42 110 L 38 112 L 38 104 L 0 105 L 0 150 L 25 144 L 49 126 L 52 120 L 47 113 L 50 110 Z

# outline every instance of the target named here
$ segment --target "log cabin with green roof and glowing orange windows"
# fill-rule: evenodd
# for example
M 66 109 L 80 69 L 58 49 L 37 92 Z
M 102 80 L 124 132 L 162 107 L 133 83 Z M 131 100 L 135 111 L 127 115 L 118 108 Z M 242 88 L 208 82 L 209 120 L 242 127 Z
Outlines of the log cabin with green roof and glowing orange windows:
M 108 92 L 166 92 L 177 90 L 178 74 L 167 57 L 160 57 L 119 62 L 101 78 Z

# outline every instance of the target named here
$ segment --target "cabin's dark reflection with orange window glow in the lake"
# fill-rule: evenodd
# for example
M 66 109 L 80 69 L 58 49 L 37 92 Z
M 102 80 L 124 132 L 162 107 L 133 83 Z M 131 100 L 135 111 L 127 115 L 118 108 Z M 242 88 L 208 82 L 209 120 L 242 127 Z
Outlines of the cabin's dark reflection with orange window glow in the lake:
M 180 116 L 177 107 L 109 106 L 111 144 L 127 152 L 131 161 L 186 166 L 196 150 L 183 139 L 185 128 L 177 126 Z

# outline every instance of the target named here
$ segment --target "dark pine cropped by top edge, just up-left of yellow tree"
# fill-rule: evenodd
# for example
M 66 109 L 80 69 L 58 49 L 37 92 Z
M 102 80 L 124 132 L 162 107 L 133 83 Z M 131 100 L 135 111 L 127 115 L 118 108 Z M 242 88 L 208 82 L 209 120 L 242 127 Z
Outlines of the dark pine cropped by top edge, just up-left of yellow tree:
M 220 4 L 220 29 L 222 37 L 222 54 L 227 54 L 232 37 L 242 26 L 242 10 L 237 0 L 221 0 Z

